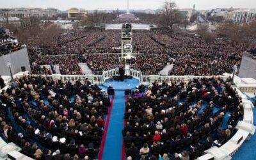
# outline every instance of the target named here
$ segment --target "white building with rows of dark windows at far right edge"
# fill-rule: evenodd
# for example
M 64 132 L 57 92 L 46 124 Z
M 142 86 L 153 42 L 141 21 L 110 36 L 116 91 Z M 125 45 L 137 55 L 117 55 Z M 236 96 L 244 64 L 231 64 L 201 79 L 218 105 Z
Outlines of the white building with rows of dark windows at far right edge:
M 232 12 L 232 21 L 247 23 L 256 20 L 256 10 L 235 10 Z

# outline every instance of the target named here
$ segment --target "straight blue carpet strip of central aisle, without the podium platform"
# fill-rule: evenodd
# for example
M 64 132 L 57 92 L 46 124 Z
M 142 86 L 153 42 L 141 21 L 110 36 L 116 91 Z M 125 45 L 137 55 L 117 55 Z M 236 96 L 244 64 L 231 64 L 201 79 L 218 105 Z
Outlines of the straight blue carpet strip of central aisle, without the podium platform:
M 116 91 L 103 152 L 104 160 L 121 159 L 124 126 L 124 91 Z

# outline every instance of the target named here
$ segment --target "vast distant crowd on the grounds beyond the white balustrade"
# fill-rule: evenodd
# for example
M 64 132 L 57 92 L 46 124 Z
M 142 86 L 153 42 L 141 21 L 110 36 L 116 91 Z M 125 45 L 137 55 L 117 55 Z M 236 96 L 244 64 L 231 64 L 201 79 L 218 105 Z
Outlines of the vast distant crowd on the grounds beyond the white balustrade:
M 61 65 L 61 74 L 81 74 L 79 63 L 87 63 L 93 72 L 99 73 L 124 66 L 125 60 L 120 60 L 120 39 L 121 31 L 115 30 L 87 29 L 76 33 L 63 30 L 45 49 L 38 48 L 38 44 L 33 42 L 28 43 L 32 72 L 52 74 L 51 70 L 40 67 L 51 62 L 53 65 Z M 246 51 L 245 44 L 233 45 L 220 35 L 212 44 L 207 44 L 193 33 L 169 36 L 159 30 L 133 31 L 132 43 L 135 58 L 127 60 L 130 62 L 128 64 L 145 75 L 163 70 L 168 63 L 173 65 L 169 76 L 222 75 L 234 65 L 239 65 L 243 51 Z M 84 59 L 76 60 L 76 56 L 73 56 L 76 54 L 83 54 Z M 59 55 L 63 58 L 56 57 Z M 72 55 L 72 62 L 64 60 L 66 55 Z

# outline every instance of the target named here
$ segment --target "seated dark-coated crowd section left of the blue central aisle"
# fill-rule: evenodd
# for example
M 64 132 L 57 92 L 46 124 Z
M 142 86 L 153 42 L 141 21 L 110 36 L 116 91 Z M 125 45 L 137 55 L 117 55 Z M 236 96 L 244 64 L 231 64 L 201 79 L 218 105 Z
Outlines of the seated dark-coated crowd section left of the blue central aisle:
M 109 105 L 88 80 L 24 75 L 0 94 L 1 138 L 34 159 L 97 159 Z

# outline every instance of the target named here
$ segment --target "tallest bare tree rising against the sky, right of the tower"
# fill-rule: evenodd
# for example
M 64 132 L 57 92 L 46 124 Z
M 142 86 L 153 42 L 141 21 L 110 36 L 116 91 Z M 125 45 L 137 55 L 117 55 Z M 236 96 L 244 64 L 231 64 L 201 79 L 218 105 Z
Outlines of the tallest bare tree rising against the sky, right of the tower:
M 175 24 L 179 23 L 179 15 L 176 9 L 176 3 L 165 1 L 161 15 L 158 20 L 160 28 L 167 29 L 172 35 L 175 31 Z

